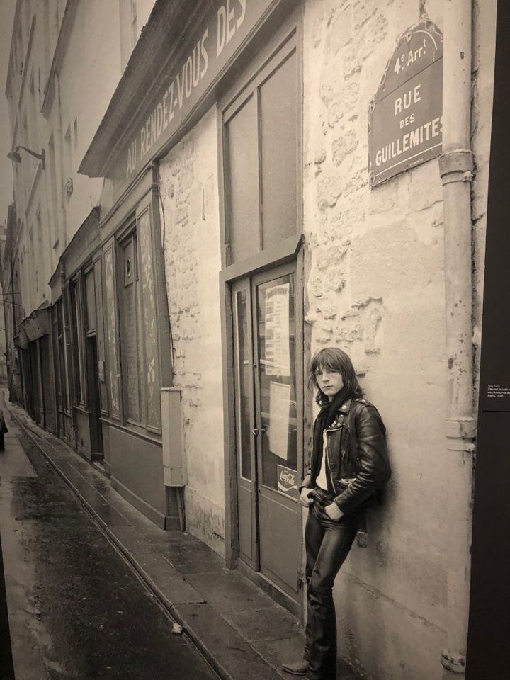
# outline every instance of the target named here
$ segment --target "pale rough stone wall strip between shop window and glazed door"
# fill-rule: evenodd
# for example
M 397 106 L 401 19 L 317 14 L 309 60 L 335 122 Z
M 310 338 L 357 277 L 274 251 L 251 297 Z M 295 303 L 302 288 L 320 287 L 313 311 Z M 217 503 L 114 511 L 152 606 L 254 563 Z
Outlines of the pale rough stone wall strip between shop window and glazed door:
M 220 216 L 216 111 L 212 108 L 160 166 L 164 251 L 175 385 L 182 389 L 189 531 L 225 551 Z

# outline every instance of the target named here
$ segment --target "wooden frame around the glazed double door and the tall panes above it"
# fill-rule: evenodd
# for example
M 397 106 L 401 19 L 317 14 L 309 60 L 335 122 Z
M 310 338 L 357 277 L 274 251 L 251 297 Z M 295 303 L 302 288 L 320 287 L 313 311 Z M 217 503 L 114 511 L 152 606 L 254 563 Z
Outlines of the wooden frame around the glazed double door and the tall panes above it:
M 256 34 L 256 40 L 246 48 L 246 52 L 237 60 L 237 78 L 220 92 L 217 103 L 217 140 L 218 140 L 218 190 L 220 209 L 220 237 L 221 237 L 221 261 L 220 271 L 220 313 L 222 324 L 222 388 L 223 388 L 223 437 L 224 437 L 224 480 L 225 480 L 225 562 L 227 567 L 233 569 L 239 567 L 247 577 L 257 582 L 263 589 L 268 591 L 271 597 L 286 608 L 293 611 L 296 616 L 302 618 L 302 606 L 283 594 L 278 587 L 271 587 L 271 582 L 265 577 L 257 579 L 260 572 L 252 571 L 244 562 L 239 560 L 239 517 L 237 512 L 237 450 L 235 433 L 235 400 L 234 400 L 234 314 L 232 308 L 232 282 L 244 276 L 254 276 L 257 272 L 276 267 L 288 261 L 295 260 L 295 290 L 296 290 L 296 352 L 297 352 L 297 375 L 296 375 L 296 400 L 300 402 L 300 408 L 304 407 L 303 368 L 304 368 L 304 334 L 303 323 L 304 295 L 303 295 L 303 268 L 304 253 L 302 245 L 302 97 L 303 97 L 303 15 L 304 3 L 293 4 L 292 10 L 288 6 L 278 15 L 271 16 L 271 23 L 267 21 L 261 26 Z M 268 64 L 274 55 L 284 47 L 288 40 L 295 39 L 297 55 L 297 154 L 296 154 L 296 178 L 297 178 L 297 215 L 296 234 L 283 239 L 277 244 L 251 256 L 243 261 L 232 263 L 229 251 L 229 234 L 226 219 L 225 196 L 225 164 L 224 164 L 224 117 L 223 113 L 231 106 L 234 100 L 242 93 L 246 86 L 256 79 L 257 74 Z M 305 421 L 304 412 L 302 427 L 298 428 L 298 456 L 302 455 L 304 442 Z M 302 514 L 300 515 L 302 530 Z M 302 533 L 302 531 L 301 531 Z

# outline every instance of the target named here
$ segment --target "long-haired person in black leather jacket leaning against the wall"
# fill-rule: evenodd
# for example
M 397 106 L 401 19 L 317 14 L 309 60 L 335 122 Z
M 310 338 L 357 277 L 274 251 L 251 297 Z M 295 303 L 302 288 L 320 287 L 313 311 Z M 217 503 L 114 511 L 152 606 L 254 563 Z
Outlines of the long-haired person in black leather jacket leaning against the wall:
M 307 680 L 336 679 L 336 613 L 333 584 L 356 533 L 366 536 L 365 510 L 380 504 L 391 470 L 385 426 L 363 392 L 348 355 L 319 351 L 310 363 L 309 385 L 321 407 L 313 429 L 300 503 L 307 507 L 307 626 L 300 661 L 282 664 Z

